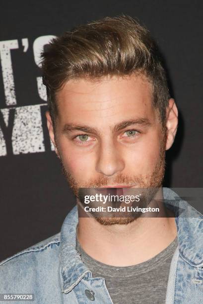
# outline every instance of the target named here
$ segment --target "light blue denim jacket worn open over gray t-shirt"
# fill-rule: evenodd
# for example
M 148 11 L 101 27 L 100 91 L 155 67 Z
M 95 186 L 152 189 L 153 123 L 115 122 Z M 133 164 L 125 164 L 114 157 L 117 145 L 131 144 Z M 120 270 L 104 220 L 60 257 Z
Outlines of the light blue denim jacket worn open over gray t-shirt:
M 177 199 L 171 189 L 163 188 L 163 195 L 164 203 L 175 212 L 178 230 L 166 304 L 202 304 L 203 215 L 186 201 Z M 0 293 L 34 294 L 37 304 L 112 304 L 105 279 L 93 278 L 75 249 L 77 223 L 75 206 L 61 232 L 3 260 Z

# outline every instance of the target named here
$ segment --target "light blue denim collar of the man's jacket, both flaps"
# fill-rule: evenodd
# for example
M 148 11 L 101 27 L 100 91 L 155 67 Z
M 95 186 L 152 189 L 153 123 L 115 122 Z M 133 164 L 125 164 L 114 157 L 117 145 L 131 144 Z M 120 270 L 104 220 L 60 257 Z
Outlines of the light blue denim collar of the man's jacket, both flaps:
M 192 266 L 203 267 L 203 215 L 183 201 L 169 188 L 163 188 L 163 197 L 168 208 L 176 215 L 179 251 L 182 258 Z M 68 213 L 61 229 L 61 275 L 62 292 L 68 293 L 91 272 L 76 251 L 77 206 Z

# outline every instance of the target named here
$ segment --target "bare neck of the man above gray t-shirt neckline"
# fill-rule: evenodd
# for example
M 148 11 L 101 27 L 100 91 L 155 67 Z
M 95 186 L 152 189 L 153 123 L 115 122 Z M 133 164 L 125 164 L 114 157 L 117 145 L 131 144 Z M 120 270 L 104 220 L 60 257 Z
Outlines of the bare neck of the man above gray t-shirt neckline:
M 157 195 L 163 199 L 162 188 Z M 112 266 L 142 263 L 164 250 L 176 237 L 174 215 L 158 201 L 161 215 L 141 217 L 127 225 L 101 225 L 94 218 L 79 218 L 77 238 L 95 260 Z

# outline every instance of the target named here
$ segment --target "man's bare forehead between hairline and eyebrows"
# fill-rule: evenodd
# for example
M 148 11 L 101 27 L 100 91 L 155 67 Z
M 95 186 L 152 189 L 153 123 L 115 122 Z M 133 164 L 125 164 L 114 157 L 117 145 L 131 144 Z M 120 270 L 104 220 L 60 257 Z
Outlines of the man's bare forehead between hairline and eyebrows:
M 68 80 L 57 93 L 60 122 L 110 125 L 124 119 L 155 119 L 152 84 L 143 75 Z

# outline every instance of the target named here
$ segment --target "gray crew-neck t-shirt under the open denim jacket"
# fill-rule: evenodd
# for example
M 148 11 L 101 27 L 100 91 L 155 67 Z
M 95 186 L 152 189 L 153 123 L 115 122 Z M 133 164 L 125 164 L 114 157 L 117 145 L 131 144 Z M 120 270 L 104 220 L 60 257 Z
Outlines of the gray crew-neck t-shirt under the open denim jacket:
M 90 257 L 76 238 L 76 250 L 93 277 L 103 277 L 114 304 L 165 303 L 166 289 L 172 256 L 178 246 L 177 237 L 173 242 L 146 262 L 115 267 Z

